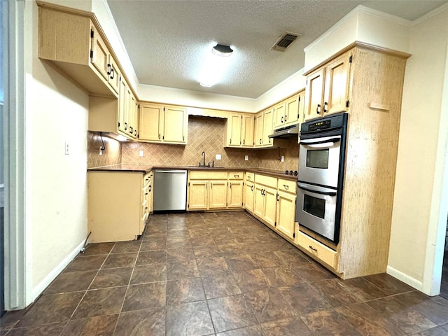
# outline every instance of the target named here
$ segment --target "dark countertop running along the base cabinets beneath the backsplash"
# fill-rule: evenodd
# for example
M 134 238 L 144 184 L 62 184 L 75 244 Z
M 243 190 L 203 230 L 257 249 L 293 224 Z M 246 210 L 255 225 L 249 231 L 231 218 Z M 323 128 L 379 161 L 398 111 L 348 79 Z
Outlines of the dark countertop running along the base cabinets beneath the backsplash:
M 87 172 L 141 172 L 145 173 L 151 169 L 185 169 L 206 171 L 243 171 L 255 174 L 274 176 L 286 180 L 297 180 L 295 175 L 286 175 L 285 172 L 273 169 L 247 168 L 247 167 L 198 167 L 198 166 L 150 166 L 150 165 L 111 165 L 106 167 L 89 168 Z

